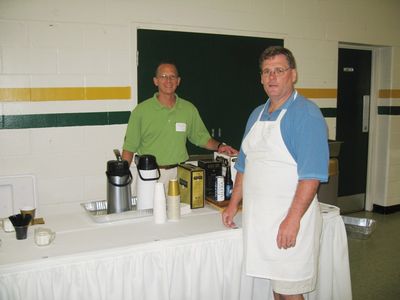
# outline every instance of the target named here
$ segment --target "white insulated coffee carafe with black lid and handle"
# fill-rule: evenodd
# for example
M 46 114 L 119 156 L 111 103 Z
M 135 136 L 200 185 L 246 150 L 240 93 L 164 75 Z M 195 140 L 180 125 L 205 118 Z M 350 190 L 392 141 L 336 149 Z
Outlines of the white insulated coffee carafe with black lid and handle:
M 156 157 L 150 154 L 135 156 L 138 171 L 137 209 L 153 208 L 154 188 L 160 178 Z

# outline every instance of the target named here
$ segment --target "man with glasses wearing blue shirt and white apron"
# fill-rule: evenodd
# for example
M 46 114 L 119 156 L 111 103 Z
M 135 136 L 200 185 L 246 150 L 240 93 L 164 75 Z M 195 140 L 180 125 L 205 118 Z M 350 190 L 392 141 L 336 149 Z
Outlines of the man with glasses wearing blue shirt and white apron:
M 290 50 L 267 48 L 260 70 L 269 99 L 247 122 L 222 220 L 235 226 L 243 199 L 246 274 L 270 279 L 275 299 L 304 299 L 316 284 L 322 226 L 316 193 L 328 180 L 327 126 L 320 109 L 294 89 Z

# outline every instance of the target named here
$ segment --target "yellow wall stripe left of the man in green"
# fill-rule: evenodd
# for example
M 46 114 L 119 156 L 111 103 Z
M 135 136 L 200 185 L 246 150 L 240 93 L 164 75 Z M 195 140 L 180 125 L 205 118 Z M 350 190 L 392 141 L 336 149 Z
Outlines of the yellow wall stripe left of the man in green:
M 131 99 L 131 87 L 0 88 L 0 101 Z

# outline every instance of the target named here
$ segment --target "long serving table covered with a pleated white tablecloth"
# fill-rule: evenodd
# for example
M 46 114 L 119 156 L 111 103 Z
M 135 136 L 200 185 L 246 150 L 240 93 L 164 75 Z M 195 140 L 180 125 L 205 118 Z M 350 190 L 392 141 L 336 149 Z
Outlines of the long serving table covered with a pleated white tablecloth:
M 322 211 L 318 284 L 305 297 L 351 299 L 344 224 L 337 208 Z M 211 207 L 165 224 L 97 224 L 84 212 L 45 221 L 57 232 L 50 246 L 34 244 L 38 225 L 26 240 L 0 233 L 0 299 L 272 299 L 268 280 L 242 274 L 242 230 Z

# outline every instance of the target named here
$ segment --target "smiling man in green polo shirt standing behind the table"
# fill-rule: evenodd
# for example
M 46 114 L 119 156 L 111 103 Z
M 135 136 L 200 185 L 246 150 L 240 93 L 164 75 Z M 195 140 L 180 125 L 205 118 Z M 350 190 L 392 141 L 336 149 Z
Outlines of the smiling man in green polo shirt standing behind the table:
M 180 81 L 175 64 L 158 65 L 153 78 L 158 92 L 132 111 L 123 145 L 122 158 L 129 164 L 135 153 L 154 155 L 161 171 L 159 182 L 165 186 L 176 178 L 177 164 L 189 158 L 187 139 L 208 150 L 237 153 L 231 146 L 213 139 L 196 107 L 175 94 Z

